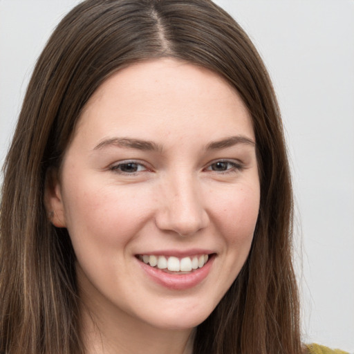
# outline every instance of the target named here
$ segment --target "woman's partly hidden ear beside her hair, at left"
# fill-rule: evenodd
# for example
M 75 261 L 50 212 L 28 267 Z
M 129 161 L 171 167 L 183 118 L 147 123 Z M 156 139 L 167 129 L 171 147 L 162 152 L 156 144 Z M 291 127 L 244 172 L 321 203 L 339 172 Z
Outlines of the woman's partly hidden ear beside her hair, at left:
M 48 219 L 55 227 L 66 227 L 62 187 L 57 169 L 48 169 L 44 188 L 44 205 Z

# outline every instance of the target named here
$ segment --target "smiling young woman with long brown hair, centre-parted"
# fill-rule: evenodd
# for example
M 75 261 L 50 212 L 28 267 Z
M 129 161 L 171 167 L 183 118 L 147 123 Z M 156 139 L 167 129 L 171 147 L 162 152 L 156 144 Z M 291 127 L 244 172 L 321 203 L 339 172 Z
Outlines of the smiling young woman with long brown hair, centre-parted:
M 3 353 L 301 353 L 277 102 L 214 3 L 88 0 L 5 165 Z

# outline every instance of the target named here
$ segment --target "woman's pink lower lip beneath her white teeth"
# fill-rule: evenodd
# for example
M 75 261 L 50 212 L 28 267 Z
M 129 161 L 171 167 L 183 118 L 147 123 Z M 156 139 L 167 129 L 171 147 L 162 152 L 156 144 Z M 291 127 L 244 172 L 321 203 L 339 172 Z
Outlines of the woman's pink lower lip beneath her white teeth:
M 212 263 L 214 263 L 214 258 L 214 256 L 210 257 L 202 268 L 198 268 L 188 274 L 167 273 L 158 268 L 153 268 L 138 259 L 137 261 L 150 279 L 159 285 L 165 286 L 165 288 L 169 288 L 171 290 L 187 290 L 194 288 L 194 286 L 197 286 L 207 277 L 210 269 L 212 268 Z

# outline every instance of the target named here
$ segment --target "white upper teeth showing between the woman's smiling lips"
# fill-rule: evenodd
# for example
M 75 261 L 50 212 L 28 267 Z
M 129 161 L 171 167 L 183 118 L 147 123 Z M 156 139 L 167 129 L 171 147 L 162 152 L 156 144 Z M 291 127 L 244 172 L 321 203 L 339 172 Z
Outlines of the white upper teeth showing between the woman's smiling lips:
M 156 256 L 153 254 L 139 254 L 137 257 L 140 261 L 153 268 L 158 268 L 164 272 L 171 272 L 173 274 L 186 274 L 193 272 L 203 266 L 212 257 L 213 254 L 198 254 L 191 257 L 168 257 Z

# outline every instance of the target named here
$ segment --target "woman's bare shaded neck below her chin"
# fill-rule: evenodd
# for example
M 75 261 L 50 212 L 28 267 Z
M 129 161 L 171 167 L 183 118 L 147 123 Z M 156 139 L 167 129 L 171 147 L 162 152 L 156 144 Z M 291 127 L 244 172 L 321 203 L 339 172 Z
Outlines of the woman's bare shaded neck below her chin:
M 192 354 L 193 328 L 156 328 L 116 308 L 82 305 L 81 313 L 85 354 Z

